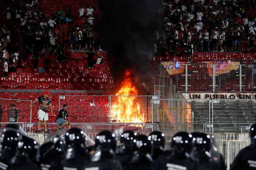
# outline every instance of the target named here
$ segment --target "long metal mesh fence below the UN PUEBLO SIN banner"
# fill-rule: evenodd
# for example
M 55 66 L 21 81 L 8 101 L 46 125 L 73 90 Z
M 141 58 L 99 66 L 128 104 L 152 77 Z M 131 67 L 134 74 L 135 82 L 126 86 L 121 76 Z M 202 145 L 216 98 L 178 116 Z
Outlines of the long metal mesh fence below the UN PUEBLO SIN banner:
M 152 129 L 248 132 L 255 107 L 254 99 L 152 99 Z

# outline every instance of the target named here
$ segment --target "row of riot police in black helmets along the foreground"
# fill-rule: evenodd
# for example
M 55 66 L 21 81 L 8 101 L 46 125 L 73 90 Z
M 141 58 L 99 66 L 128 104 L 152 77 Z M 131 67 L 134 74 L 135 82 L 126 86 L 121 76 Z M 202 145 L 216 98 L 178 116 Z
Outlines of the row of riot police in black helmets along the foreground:
M 256 169 L 256 124 L 251 145 L 239 152 L 232 170 Z M 165 136 L 125 131 L 117 147 L 116 135 L 98 133 L 93 142 L 79 128 L 55 133 L 40 146 L 16 125 L 1 133 L 0 170 L 225 170 L 214 137 L 202 132 L 178 132 L 165 150 Z

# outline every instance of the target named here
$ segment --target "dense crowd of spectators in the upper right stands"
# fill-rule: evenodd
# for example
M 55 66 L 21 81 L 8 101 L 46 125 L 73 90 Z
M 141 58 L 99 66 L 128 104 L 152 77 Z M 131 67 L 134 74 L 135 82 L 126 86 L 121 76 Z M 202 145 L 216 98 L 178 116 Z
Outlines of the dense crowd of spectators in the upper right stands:
M 255 51 L 255 0 L 162 0 L 154 52 Z

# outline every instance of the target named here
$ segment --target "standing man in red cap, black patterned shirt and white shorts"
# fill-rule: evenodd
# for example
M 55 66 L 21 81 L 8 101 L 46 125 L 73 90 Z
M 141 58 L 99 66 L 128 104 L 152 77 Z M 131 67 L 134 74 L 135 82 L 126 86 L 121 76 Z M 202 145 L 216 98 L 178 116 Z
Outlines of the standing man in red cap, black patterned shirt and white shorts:
M 51 104 L 51 101 L 49 99 L 49 96 L 50 96 L 50 93 L 48 91 L 45 91 L 45 94 L 41 97 L 38 97 L 36 98 L 32 105 L 30 106 L 31 108 L 33 108 L 34 104 L 36 104 L 36 102 L 39 102 L 39 106 L 37 108 L 37 128 L 38 128 L 38 131 L 37 133 L 41 133 L 41 122 L 42 121 L 45 121 L 44 122 L 44 125 L 45 125 L 45 130 L 44 130 L 44 133 L 51 133 L 50 131 L 47 130 L 47 120 L 48 120 L 48 114 L 47 114 L 47 111 L 48 111 L 48 106 L 50 107 L 50 110 L 51 110 L 51 113 L 52 113 L 52 104 Z

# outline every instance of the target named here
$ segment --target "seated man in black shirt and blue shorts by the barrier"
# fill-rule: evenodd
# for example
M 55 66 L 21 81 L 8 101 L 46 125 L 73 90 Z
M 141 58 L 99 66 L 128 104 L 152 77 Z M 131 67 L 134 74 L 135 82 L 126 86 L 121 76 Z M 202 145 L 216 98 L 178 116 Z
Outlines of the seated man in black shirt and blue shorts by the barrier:
M 66 121 L 65 119 L 68 119 L 68 121 Z M 62 109 L 59 111 L 57 117 L 56 117 L 56 123 L 59 124 L 60 127 L 58 127 L 58 130 L 62 130 L 64 129 L 65 125 L 69 124 L 69 128 L 71 126 L 70 120 L 69 120 L 69 115 L 68 115 L 68 105 L 63 105 Z

